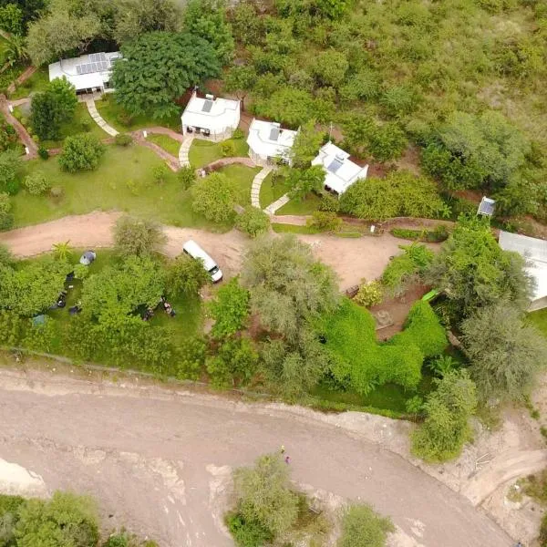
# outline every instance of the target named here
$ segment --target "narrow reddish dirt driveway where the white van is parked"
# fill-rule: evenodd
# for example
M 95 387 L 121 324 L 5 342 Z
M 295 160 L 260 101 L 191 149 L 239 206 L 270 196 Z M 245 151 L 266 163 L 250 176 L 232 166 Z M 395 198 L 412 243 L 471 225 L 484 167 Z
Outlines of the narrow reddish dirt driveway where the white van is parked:
M 20 257 L 46 253 L 54 243 L 67 240 L 70 240 L 73 247 L 109 247 L 112 245 L 112 226 L 119 216 L 119 212 L 67 216 L 57 221 L 0 233 L 0 243 L 5 243 Z M 164 231 L 168 237 L 165 253 L 177 256 L 185 241 L 195 239 L 228 274 L 239 270 L 243 250 L 249 242 L 242 233 L 236 231 L 212 233 L 174 226 L 165 226 Z M 389 234 L 358 239 L 323 234 L 298 237 L 312 245 L 317 258 L 335 269 L 343 290 L 358 284 L 362 278 L 371 280 L 382 274 L 389 257 L 400 253 L 398 245 L 405 243 Z

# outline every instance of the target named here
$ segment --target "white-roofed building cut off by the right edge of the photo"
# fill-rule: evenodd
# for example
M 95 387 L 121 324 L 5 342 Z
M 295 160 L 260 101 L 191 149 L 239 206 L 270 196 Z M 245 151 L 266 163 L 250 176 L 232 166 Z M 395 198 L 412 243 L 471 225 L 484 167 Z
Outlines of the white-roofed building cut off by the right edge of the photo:
M 528 309 L 532 312 L 547 307 L 547 242 L 520 233 L 501 231 L 499 243 L 504 251 L 514 251 L 526 259 L 524 269 L 535 282 Z

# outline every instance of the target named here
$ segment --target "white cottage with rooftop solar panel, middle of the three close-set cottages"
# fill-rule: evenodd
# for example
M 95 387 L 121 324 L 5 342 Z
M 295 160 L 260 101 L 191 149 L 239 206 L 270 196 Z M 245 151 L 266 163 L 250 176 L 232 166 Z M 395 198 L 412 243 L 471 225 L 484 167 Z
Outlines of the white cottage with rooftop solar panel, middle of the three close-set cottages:
M 273 121 L 253 119 L 247 137 L 249 157 L 257 165 L 273 165 L 277 160 L 290 164 L 289 152 L 297 134 L 298 131 L 281 129 L 281 125 Z

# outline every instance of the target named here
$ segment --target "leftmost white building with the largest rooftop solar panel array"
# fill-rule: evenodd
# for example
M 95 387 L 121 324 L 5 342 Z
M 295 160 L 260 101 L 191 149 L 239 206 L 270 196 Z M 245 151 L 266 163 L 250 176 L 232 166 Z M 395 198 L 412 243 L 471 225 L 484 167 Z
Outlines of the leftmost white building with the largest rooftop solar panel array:
M 119 51 L 91 53 L 81 57 L 62 59 L 49 65 L 49 81 L 66 77 L 77 93 L 105 93 L 110 88 L 112 64 L 121 58 Z

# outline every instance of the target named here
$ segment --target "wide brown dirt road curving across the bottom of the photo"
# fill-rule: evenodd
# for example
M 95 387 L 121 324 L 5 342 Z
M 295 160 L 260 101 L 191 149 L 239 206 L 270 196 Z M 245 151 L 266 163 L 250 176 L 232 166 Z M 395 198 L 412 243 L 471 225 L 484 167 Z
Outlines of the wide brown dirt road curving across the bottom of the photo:
M 0 370 L 4 468 L 28 470 L 44 492 L 90 492 L 108 524 L 149 533 L 162 547 L 232 545 L 222 528 L 230 470 L 282 443 L 294 480 L 372 502 L 404 532 L 405 542 L 397 545 L 511 546 L 468 500 L 336 427 L 335 416 L 160 387 L 28 375 Z

